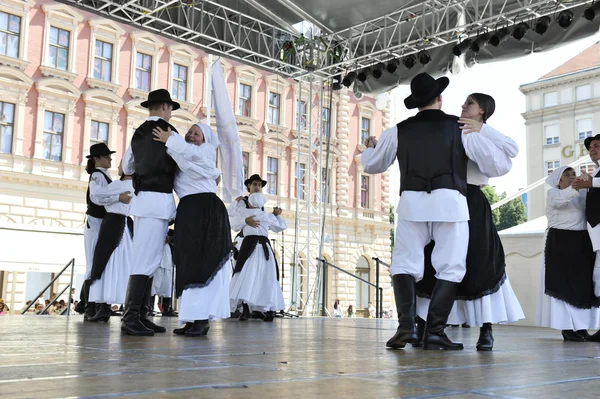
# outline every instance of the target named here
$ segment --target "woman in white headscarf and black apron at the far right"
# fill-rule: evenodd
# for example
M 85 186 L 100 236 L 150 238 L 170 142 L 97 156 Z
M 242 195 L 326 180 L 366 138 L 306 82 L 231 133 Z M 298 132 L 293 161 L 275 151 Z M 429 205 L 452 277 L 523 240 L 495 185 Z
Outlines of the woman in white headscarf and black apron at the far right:
M 571 187 L 575 171 L 562 166 L 546 179 L 548 232 L 540 273 L 537 324 L 561 330 L 565 341 L 583 342 L 598 328 L 594 295 L 595 253 L 585 218 L 586 190 Z

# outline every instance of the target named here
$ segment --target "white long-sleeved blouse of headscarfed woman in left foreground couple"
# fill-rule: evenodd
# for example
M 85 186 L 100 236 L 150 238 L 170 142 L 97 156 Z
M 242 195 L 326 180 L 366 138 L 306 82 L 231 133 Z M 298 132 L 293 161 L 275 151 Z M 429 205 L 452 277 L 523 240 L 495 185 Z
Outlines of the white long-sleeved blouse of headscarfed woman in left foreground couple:
M 199 193 L 216 193 L 216 179 L 221 175 L 217 169 L 217 150 L 211 144 L 186 143 L 178 134 L 167 140 L 167 154 L 179 166 L 175 175 L 175 193 L 179 198 Z

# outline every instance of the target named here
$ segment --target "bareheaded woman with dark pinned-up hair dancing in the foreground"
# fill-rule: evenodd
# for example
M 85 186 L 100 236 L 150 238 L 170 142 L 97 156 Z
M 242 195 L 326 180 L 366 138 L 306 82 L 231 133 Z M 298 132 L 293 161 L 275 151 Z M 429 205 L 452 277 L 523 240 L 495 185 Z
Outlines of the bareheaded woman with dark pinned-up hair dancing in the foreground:
M 500 150 L 489 165 L 478 165 L 469 160 L 467 164 L 467 204 L 469 206 L 469 249 L 467 272 L 458 288 L 457 301 L 448 318 L 450 324 L 467 323 L 479 326 L 478 351 L 490 351 L 494 347 L 492 324 L 509 323 L 525 316 L 506 275 L 504 248 L 492 218 L 490 204 L 481 187 L 490 177 L 505 175 L 512 167 L 511 158 L 519 152 L 517 144 L 488 124 L 496 104 L 494 99 L 482 93 L 473 93 L 462 106 L 459 123 L 466 133 L 477 132 L 488 138 Z M 425 277 L 417 284 L 417 314 L 425 319 L 435 270 L 431 266 L 431 250 L 426 249 Z M 429 256 L 428 256 L 429 255 Z M 424 322 L 418 323 L 420 330 Z M 419 332 L 420 333 L 420 332 Z

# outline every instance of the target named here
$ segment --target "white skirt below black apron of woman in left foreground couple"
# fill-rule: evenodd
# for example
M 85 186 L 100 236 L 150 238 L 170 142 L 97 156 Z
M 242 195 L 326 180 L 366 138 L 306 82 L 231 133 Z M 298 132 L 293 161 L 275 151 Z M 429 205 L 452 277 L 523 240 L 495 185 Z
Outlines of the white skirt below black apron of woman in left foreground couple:
M 179 299 L 179 324 L 194 320 L 226 319 L 229 311 L 229 262 L 203 288 L 187 288 Z

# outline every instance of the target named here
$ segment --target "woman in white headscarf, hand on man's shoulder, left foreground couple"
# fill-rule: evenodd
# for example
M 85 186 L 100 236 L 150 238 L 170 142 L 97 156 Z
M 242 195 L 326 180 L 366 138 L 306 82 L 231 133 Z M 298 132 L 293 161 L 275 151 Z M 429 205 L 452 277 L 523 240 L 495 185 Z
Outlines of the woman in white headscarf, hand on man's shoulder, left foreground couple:
M 154 129 L 155 140 L 179 166 L 175 193 L 180 198 L 175 219 L 175 286 L 182 328 L 173 333 L 188 337 L 208 334 L 209 320 L 228 318 L 231 227 L 227 209 L 217 197 L 219 170 L 215 167 L 220 143 L 208 125 L 193 125 L 185 135 Z M 187 143 L 186 143 L 187 142 Z

